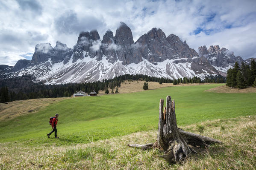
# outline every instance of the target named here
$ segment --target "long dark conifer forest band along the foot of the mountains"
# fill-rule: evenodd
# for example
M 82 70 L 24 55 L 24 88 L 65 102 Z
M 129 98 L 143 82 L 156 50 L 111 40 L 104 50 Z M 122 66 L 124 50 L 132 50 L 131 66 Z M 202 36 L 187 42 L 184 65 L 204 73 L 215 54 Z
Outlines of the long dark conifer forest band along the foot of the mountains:
M 214 77 L 209 78 L 209 81 L 213 81 Z M 85 82 L 85 83 L 68 83 L 62 85 L 45 85 L 44 82 L 35 82 L 35 77 L 22 76 L 9 79 L 1 79 L 0 81 L 0 102 L 10 102 L 14 100 L 24 99 L 37 99 L 37 98 L 52 98 L 52 97 L 69 97 L 77 91 L 84 91 L 90 93 L 91 91 L 106 90 L 107 88 L 115 89 L 121 86 L 124 80 L 128 81 L 146 81 L 146 82 L 159 82 L 173 83 L 175 81 L 168 78 L 151 77 L 142 74 L 125 74 L 115 77 L 113 79 L 104 79 L 97 82 Z M 204 82 L 198 77 L 183 78 L 181 82 Z M 178 80 L 177 80 L 178 81 Z M 180 81 L 180 79 L 179 79 Z

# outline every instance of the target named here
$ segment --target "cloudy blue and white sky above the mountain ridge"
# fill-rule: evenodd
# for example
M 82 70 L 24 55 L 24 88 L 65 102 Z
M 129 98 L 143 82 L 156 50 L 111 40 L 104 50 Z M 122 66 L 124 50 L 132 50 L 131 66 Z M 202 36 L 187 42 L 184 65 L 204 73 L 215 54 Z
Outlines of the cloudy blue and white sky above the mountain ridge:
M 196 51 L 219 45 L 256 57 L 256 0 L 0 0 L 0 64 L 31 59 L 42 42 L 73 48 L 81 31 L 115 36 L 120 21 L 134 41 L 156 27 Z

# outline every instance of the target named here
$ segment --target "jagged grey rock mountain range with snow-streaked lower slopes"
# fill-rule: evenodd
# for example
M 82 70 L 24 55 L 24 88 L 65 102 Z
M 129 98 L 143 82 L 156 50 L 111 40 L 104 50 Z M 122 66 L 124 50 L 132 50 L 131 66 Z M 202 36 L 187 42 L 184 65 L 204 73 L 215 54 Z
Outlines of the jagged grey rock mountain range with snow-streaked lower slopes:
M 134 42 L 131 29 L 121 22 L 115 37 L 108 30 L 101 41 L 96 30 L 81 32 L 73 49 L 59 41 L 54 48 L 49 43 L 38 44 L 31 61 L 19 60 L 13 68 L 1 71 L 1 77 L 29 74 L 45 83 L 61 84 L 93 82 L 123 74 L 171 79 L 225 75 L 218 61 L 213 62 L 219 50 L 210 53 L 205 47 L 206 55 L 206 51 L 200 52 L 204 47 L 197 54 L 185 41 L 174 34 L 166 37 L 159 28 L 151 29 Z

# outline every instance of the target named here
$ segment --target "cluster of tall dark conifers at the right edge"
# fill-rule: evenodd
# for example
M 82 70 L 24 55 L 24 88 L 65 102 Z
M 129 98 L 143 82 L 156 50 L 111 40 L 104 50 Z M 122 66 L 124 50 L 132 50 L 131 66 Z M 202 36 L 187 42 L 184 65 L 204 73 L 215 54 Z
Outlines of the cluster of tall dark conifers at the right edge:
M 242 62 L 241 67 L 235 62 L 234 68 L 227 71 L 227 86 L 232 88 L 256 87 L 256 62 L 251 59 L 250 65 Z

